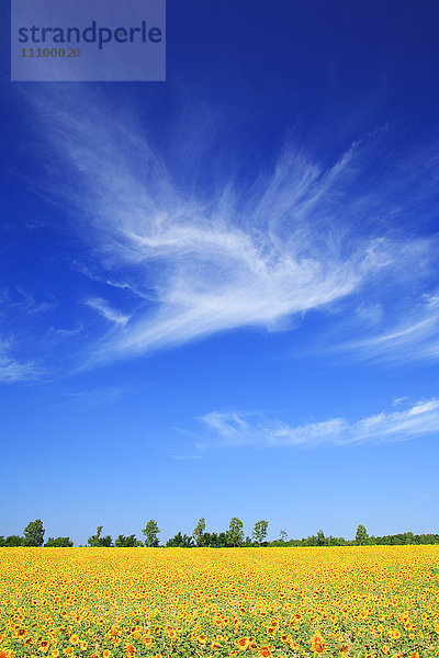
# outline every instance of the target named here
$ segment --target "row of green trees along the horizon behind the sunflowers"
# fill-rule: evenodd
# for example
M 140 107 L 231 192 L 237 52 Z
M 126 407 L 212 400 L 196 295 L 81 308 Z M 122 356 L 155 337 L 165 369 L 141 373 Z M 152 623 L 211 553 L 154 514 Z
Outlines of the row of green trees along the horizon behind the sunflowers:
M 421 545 L 421 544 L 439 544 L 439 534 L 420 534 L 416 535 L 413 532 L 405 532 L 395 535 L 374 536 L 369 535 L 364 525 L 360 524 L 357 527 L 354 540 L 345 540 L 344 537 L 325 536 L 323 530 L 319 530 L 315 535 L 311 535 L 302 540 L 289 540 L 288 533 L 281 530 L 278 540 L 267 542 L 268 521 L 261 520 L 255 523 L 251 536 L 244 536 L 244 523 L 237 517 L 230 520 L 229 526 L 224 532 L 206 532 L 205 519 L 202 517 L 196 523 L 191 535 L 187 535 L 179 531 L 172 538 L 166 542 L 165 547 L 175 548 L 192 548 L 192 547 L 209 547 L 209 548 L 237 548 L 250 546 L 401 546 L 405 544 Z M 115 547 L 115 548 L 134 548 L 134 547 L 151 547 L 160 546 L 158 535 L 160 529 L 157 521 L 150 519 L 142 533 L 144 540 L 137 540 L 135 534 L 122 535 L 113 542 L 110 535 L 102 534 L 103 525 L 98 525 L 95 534 L 88 538 L 87 545 L 91 547 Z M 23 531 L 23 536 L 10 535 L 4 537 L 0 535 L 0 547 L 13 546 L 47 546 L 47 547 L 71 547 L 74 542 L 70 537 L 48 537 L 44 543 L 45 530 L 43 521 L 36 519 L 31 521 Z

